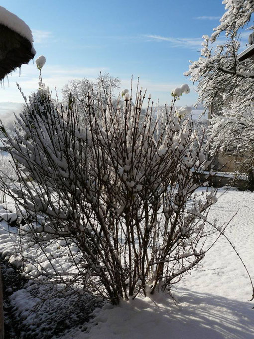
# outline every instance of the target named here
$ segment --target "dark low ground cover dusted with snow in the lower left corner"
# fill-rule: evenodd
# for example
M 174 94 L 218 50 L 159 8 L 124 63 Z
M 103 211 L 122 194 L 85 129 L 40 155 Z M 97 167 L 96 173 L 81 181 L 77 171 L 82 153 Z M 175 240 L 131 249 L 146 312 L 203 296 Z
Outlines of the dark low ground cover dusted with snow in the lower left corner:
M 102 302 L 73 290 L 62 294 L 55 286 L 22 279 L 20 270 L 1 262 L 4 286 L 4 327 L 6 338 L 52 339 L 71 328 L 83 329 Z

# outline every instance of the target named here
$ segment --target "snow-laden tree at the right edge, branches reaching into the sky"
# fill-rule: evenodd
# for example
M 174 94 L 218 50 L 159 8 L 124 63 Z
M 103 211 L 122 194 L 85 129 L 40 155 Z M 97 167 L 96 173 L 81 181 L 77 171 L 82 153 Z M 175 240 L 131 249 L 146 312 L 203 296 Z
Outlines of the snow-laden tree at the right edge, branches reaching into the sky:
M 220 25 L 211 37 L 203 36 L 201 57 L 192 62 L 185 75 L 198 85 L 198 102 L 212 108 L 213 146 L 221 144 L 224 150 L 238 154 L 239 169 L 250 173 L 254 165 L 254 61 L 238 56 L 243 28 L 253 29 L 254 1 L 223 3 L 226 12 Z

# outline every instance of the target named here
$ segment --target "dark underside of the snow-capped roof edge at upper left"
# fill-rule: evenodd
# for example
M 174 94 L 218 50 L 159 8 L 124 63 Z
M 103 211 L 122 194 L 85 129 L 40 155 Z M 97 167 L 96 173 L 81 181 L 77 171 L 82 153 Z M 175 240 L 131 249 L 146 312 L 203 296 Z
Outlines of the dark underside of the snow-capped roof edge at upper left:
M 24 63 L 34 54 L 29 40 L 0 24 L 0 80 Z

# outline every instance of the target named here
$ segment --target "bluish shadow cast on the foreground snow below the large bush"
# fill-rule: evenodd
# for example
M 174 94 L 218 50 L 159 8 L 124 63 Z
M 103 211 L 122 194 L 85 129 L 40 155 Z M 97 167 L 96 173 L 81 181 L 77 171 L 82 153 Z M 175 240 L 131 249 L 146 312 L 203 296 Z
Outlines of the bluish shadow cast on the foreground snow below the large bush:
M 253 304 L 199 293 L 174 291 L 176 306 L 163 293 L 103 309 L 86 333 L 62 339 L 254 339 Z

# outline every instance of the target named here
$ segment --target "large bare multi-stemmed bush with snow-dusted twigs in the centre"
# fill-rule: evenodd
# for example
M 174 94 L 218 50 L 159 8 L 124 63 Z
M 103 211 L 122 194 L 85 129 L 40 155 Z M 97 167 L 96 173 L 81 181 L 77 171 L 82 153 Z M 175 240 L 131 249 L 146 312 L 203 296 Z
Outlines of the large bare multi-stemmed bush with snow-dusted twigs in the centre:
M 16 136 L 5 136 L 19 177 L 6 189 L 22 219 L 25 273 L 114 304 L 170 290 L 216 231 L 206 223 L 214 190 L 196 193 L 209 139 L 175 112 L 175 94 L 156 116 L 149 95 L 142 119 L 145 92 L 132 95 L 115 107 L 88 92 L 82 105 L 63 107 L 44 88 L 17 119 Z

